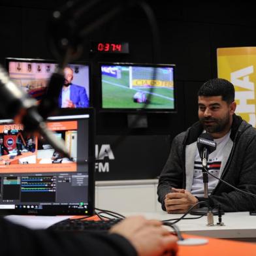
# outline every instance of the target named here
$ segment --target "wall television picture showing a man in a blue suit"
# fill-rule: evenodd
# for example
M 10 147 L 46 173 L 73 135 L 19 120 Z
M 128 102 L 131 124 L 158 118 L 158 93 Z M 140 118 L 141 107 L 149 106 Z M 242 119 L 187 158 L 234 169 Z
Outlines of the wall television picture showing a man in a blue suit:
M 57 63 L 44 59 L 6 58 L 10 78 L 31 97 L 40 102 Z M 89 64 L 71 63 L 64 69 L 65 82 L 59 94 L 59 108 L 88 108 Z

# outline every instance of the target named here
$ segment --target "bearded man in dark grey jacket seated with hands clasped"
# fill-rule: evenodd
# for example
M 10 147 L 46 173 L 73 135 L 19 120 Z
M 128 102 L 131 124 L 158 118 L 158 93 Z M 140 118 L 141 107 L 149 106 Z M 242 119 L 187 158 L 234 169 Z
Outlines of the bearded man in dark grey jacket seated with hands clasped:
M 216 78 L 198 93 L 199 121 L 172 141 L 170 155 L 161 172 L 158 200 L 168 213 L 184 213 L 204 199 L 202 161 L 197 138 L 204 132 L 214 137 L 217 148 L 210 153 L 208 170 L 229 184 L 256 194 L 256 129 L 236 116 L 234 86 Z M 256 197 L 245 195 L 209 175 L 208 203 L 225 212 L 256 209 Z

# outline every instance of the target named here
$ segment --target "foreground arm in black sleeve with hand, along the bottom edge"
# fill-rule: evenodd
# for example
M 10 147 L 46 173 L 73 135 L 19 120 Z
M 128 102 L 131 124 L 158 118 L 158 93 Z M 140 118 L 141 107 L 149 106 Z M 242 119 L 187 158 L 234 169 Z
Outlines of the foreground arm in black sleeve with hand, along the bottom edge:
M 35 231 L 0 218 L 0 244 L 1 253 L 10 256 L 156 256 L 177 249 L 175 236 L 163 229 L 159 221 L 143 217 L 128 217 L 103 234 Z

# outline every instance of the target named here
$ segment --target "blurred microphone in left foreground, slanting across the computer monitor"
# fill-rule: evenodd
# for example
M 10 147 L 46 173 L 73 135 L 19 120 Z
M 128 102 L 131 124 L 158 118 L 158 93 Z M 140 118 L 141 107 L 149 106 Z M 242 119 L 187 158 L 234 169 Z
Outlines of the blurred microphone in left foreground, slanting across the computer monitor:
M 46 108 L 42 108 L 44 110 Z M 44 111 L 44 116 L 46 114 Z M 59 140 L 52 131 L 50 131 L 44 118 L 39 114 L 37 101 L 31 98 L 21 88 L 16 86 L 10 80 L 7 72 L 0 65 L 0 115 L 5 118 L 12 118 L 16 123 L 23 123 L 25 131 L 39 133 L 52 147 L 63 157 L 69 157 L 69 152 L 65 147 L 63 140 Z

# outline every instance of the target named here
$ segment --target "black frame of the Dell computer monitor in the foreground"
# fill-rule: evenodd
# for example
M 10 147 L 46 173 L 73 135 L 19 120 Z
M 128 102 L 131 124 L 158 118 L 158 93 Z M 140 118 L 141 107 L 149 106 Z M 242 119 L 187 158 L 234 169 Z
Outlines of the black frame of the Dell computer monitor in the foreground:
M 84 209 L 76 210 L 74 208 L 61 209 L 55 205 L 52 209 L 33 209 L 30 208 L 14 208 L 14 209 L 0 209 L 0 216 L 6 215 L 36 215 L 36 216 L 55 216 L 55 215 L 67 215 L 67 216 L 92 216 L 95 211 L 95 109 L 94 108 L 61 108 L 59 112 L 52 116 L 75 116 L 89 114 L 89 136 L 88 136 L 88 212 L 85 214 Z M 51 116 L 51 117 L 52 117 Z M 51 121 L 51 120 L 49 120 Z M 91 154 L 90 154 L 91 153 Z M 74 174 L 74 172 L 72 172 Z

